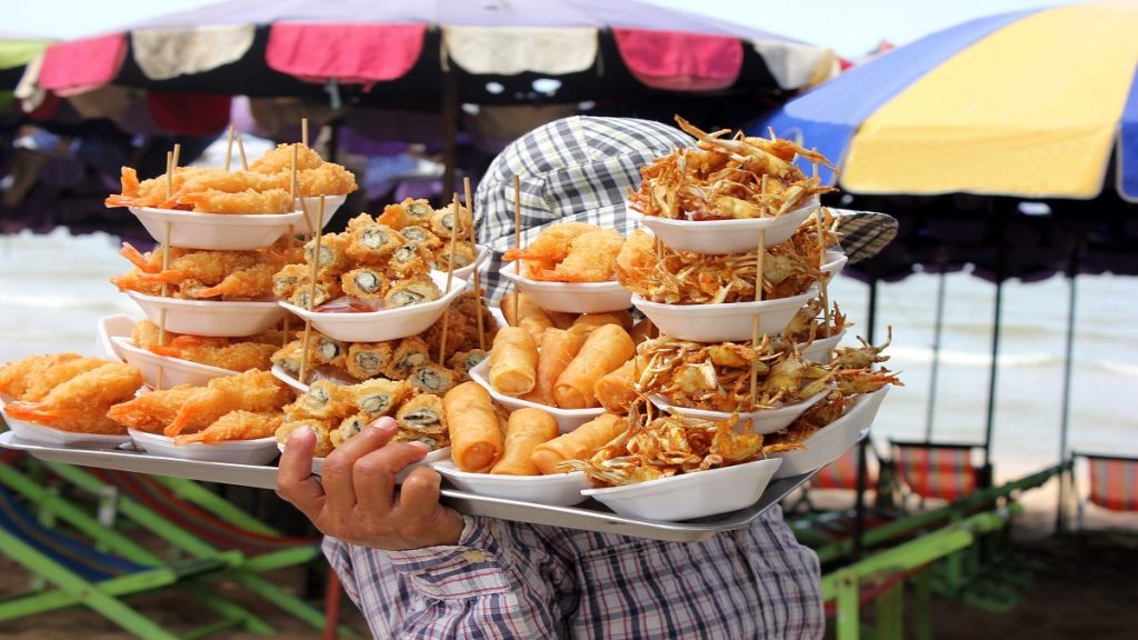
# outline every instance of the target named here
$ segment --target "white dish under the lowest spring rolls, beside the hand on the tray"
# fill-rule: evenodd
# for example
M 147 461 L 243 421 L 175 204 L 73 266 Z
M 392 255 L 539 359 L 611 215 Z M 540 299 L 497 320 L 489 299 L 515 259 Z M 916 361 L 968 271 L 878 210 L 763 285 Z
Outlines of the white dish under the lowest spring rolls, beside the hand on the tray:
M 472 474 L 460 470 L 451 460 L 435 462 L 431 468 L 451 481 L 460 491 L 555 507 L 570 507 L 584 502 L 586 497 L 582 495 L 582 491 L 588 489 L 588 481 L 582 471 L 549 476 Z

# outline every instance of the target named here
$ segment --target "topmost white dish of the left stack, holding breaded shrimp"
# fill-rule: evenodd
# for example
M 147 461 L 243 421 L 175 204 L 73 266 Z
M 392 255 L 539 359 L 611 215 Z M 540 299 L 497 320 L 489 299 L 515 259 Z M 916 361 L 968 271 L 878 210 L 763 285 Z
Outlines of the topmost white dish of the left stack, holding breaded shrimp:
M 250 251 L 263 249 L 288 232 L 291 225 L 302 230 L 304 216 L 291 213 L 195 213 L 156 207 L 131 207 L 147 232 L 157 243 L 166 235 L 170 244 L 188 249 Z

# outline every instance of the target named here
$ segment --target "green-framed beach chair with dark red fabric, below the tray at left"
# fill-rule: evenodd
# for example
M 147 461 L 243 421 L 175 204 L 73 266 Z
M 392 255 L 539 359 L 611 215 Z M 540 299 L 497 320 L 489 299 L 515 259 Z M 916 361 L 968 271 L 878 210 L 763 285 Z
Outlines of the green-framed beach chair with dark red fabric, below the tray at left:
M 313 561 L 322 564 L 319 538 L 281 535 L 193 481 L 109 469 L 80 469 L 57 462 L 42 465 L 84 492 L 113 503 L 109 508 L 104 503 L 100 511 L 122 516 L 189 557 L 212 558 L 224 551 L 240 552 L 242 561 L 226 577 L 310 626 L 325 629 L 330 617 L 327 612 L 312 607 L 263 575 L 283 567 Z M 327 602 L 338 600 L 328 599 Z M 340 629 L 340 632 L 355 634 L 347 627 Z

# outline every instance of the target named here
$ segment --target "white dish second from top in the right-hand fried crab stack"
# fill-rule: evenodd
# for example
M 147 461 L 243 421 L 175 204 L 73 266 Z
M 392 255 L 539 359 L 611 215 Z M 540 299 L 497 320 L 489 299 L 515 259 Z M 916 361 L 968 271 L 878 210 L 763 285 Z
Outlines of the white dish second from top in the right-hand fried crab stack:
M 632 302 L 663 334 L 682 340 L 720 343 L 751 339 L 754 315 L 759 317 L 759 335 L 781 334 L 798 310 L 817 295 L 818 290 L 811 287 L 805 294 L 761 302 L 663 304 L 638 295 Z

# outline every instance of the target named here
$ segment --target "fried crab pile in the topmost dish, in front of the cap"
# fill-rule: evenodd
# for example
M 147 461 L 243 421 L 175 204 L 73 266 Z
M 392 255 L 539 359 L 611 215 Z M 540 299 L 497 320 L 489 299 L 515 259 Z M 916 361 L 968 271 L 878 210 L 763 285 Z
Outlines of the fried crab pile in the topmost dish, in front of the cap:
M 751 138 L 729 130 L 707 133 L 676 116 L 695 148 L 678 148 L 641 169 L 643 181 L 629 197 L 644 215 L 678 220 L 774 218 L 813 195 L 834 190 L 807 178 L 795 157 L 834 170 L 825 156 L 790 140 Z M 836 170 L 835 170 L 836 171 Z

